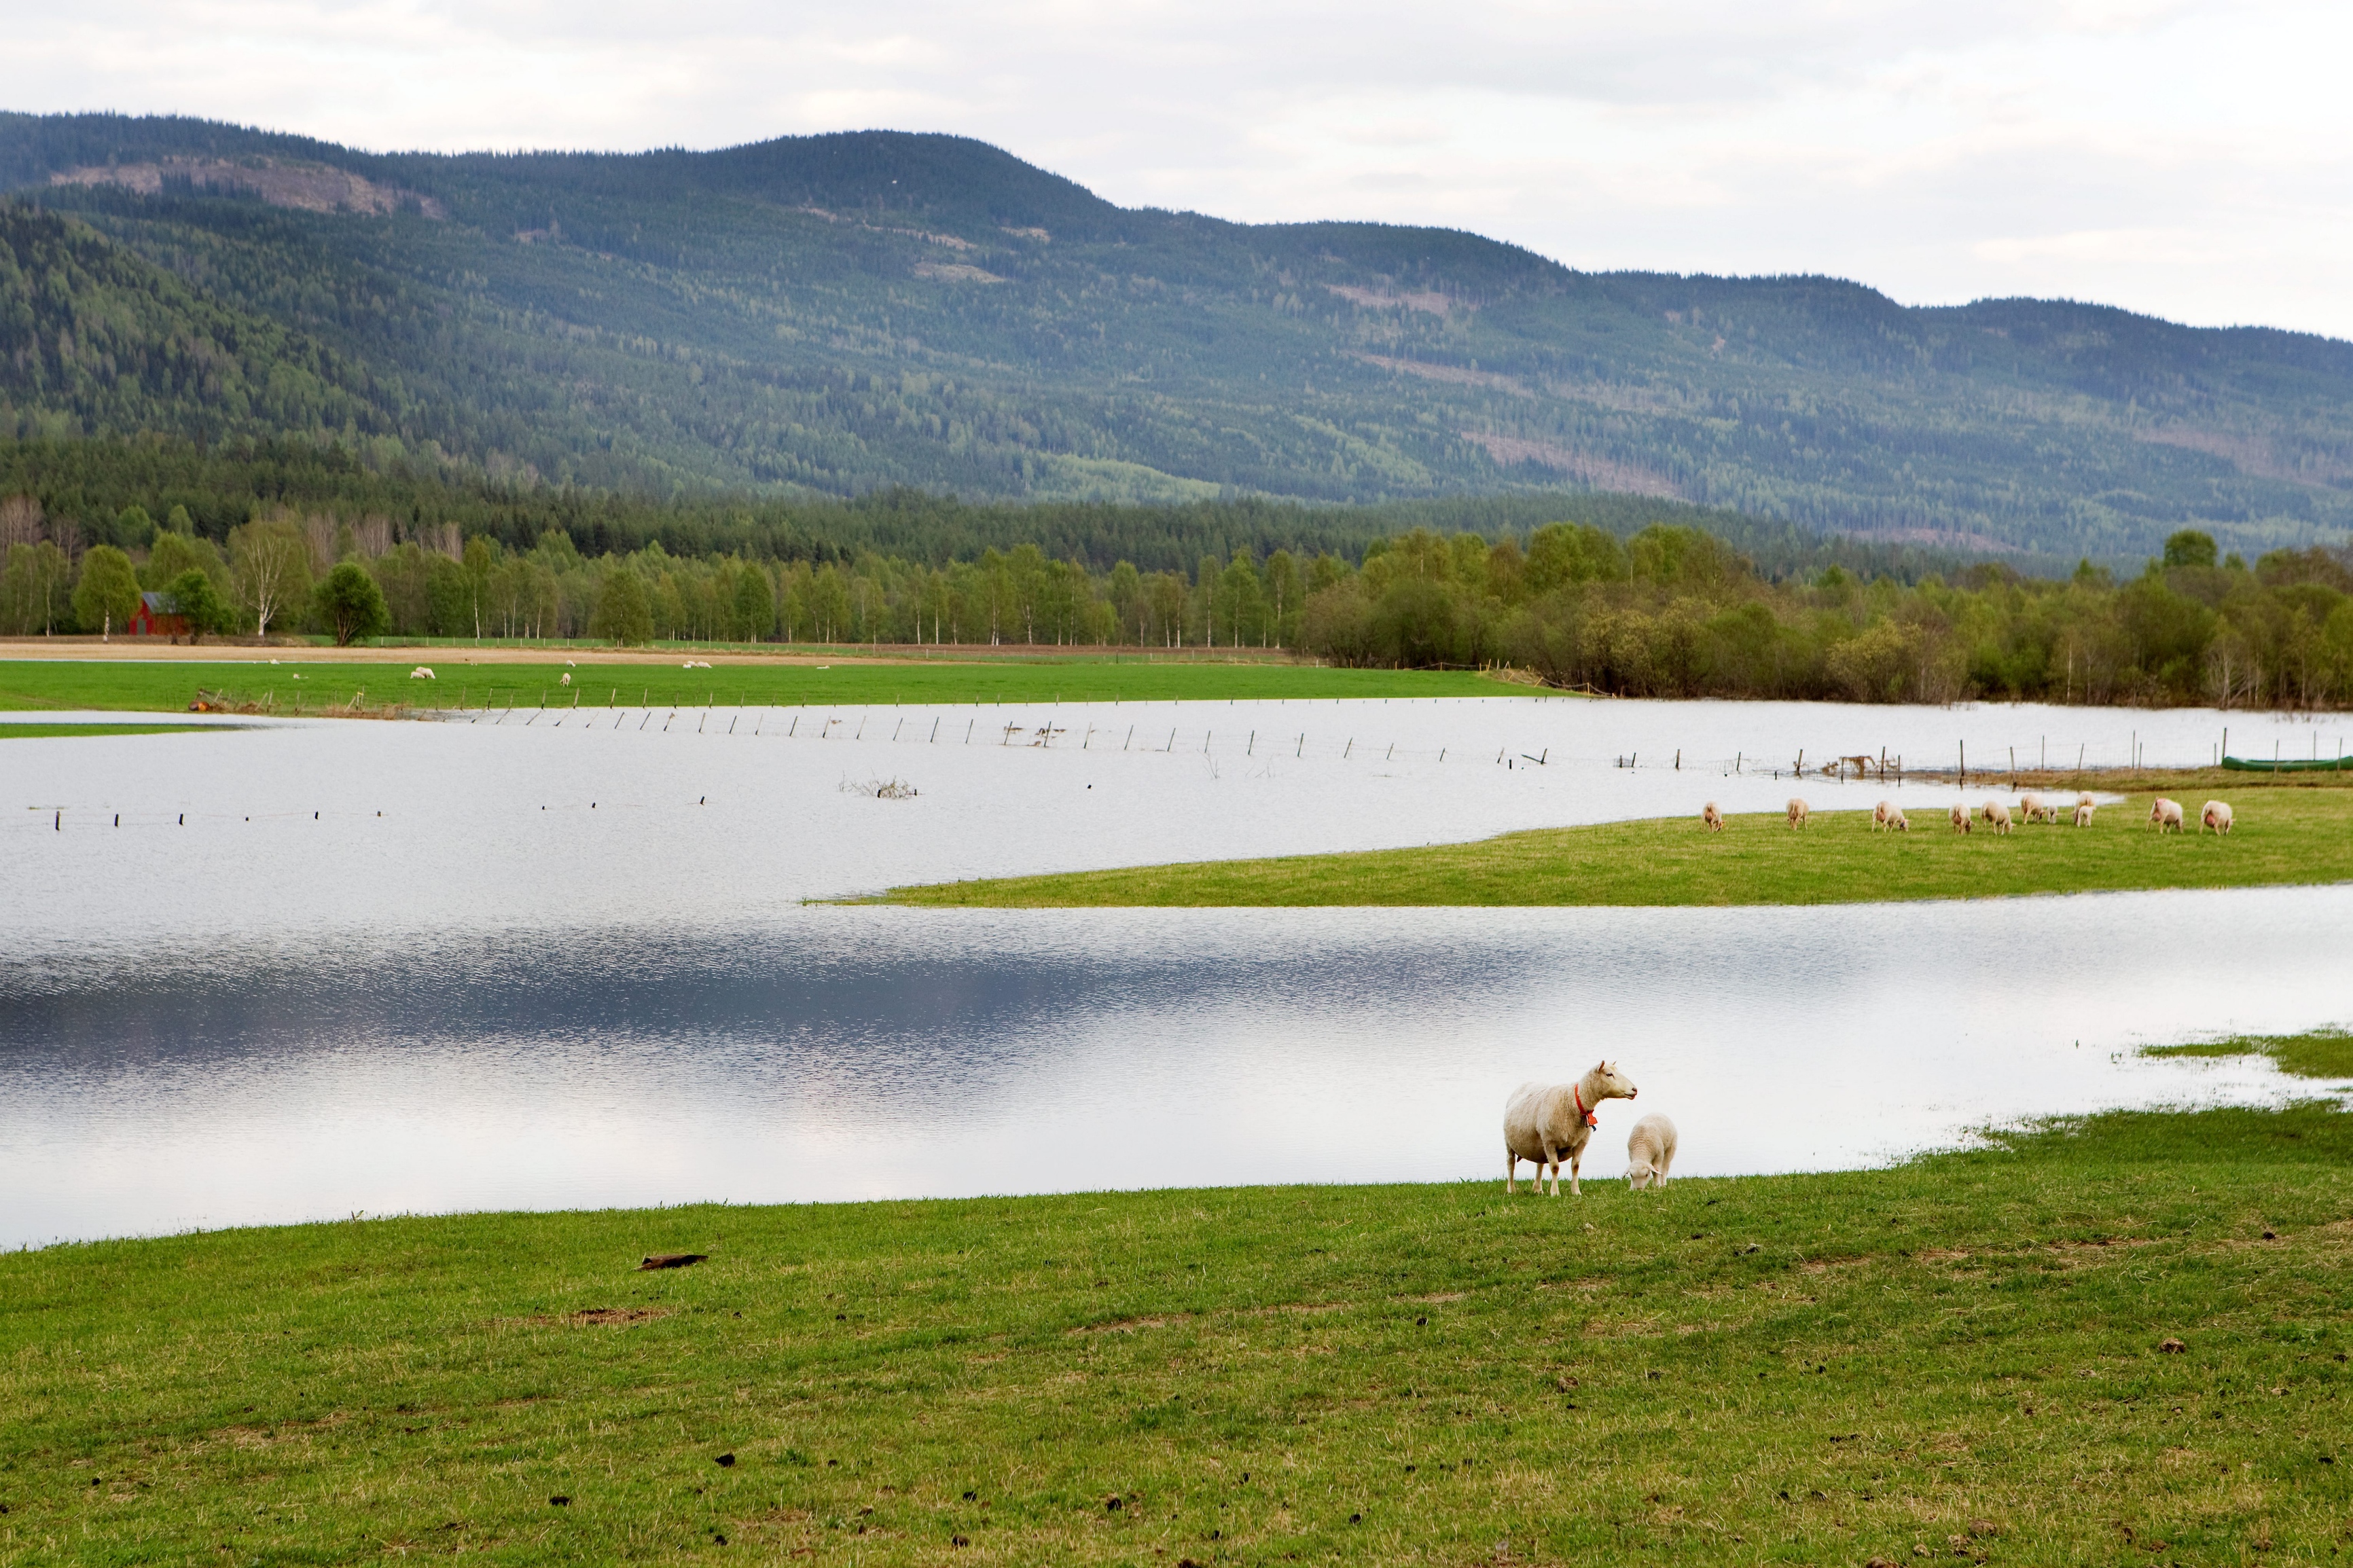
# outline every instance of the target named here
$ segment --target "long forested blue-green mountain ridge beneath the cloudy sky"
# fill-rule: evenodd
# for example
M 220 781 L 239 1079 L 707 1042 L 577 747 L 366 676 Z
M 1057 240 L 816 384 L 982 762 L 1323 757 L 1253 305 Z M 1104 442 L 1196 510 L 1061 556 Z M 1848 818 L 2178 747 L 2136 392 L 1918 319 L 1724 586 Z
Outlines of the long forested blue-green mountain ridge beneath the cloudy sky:
M 311 433 L 652 491 L 1584 487 L 2113 559 L 2179 527 L 2247 552 L 2353 527 L 2353 343 L 1122 209 L 960 136 L 379 155 L 0 115 L 0 190 L 19 433 Z M 64 374 L 68 317 L 148 348 Z M 172 343 L 294 390 L 195 395 Z

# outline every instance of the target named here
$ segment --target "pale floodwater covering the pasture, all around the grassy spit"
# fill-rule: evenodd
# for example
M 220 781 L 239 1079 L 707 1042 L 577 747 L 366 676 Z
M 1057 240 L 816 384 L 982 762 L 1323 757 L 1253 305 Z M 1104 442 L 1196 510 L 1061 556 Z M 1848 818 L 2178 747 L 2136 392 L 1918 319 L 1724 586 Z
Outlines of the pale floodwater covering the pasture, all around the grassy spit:
M 2341 743 L 2249 715 L 1513 698 L 0 741 L 0 1244 L 355 1211 L 1494 1178 L 1511 1086 L 1598 1056 L 1642 1098 L 1605 1110 L 1588 1175 L 1621 1168 L 1640 1110 L 1675 1117 L 1678 1171 L 1701 1175 L 1868 1164 L 2033 1114 L 2268 1103 L 2297 1093 L 2268 1065 L 2132 1053 L 2344 1023 L 2353 889 L 802 905 L 1777 809 L 1800 745 L 1809 764 L 1885 748 L 1951 766 L 1932 752 L 1965 743 L 1972 771 L 2028 745 L 2205 762 L 2224 724 L 2238 755 Z M 915 797 L 856 790 L 892 778 Z M 1802 792 L 1835 811 L 1955 785 Z

